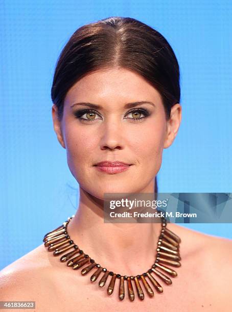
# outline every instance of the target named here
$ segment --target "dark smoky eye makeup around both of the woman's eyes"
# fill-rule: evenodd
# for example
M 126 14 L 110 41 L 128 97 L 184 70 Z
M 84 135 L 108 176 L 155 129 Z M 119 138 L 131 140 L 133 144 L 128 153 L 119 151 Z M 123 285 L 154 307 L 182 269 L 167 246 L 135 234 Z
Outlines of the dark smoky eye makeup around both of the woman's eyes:
M 139 117 L 139 118 L 126 117 L 126 119 L 129 119 L 132 122 L 142 122 L 148 116 L 151 115 L 151 113 L 148 110 L 146 110 L 144 108 L 137 108 L 137 109 L 130 110 L 129 112 L 127 112 L 127 114 L 125 116 L 127 116 L 128 114 L 132 114 L 132 113 L 139 113 L 139 114 L 143 114 L 144 115 L 143 117 Z M 82 116 L 85 115 L 85 114 L 96 114 L 96 115 L 101 117 L 101 115 L 97 111 L 95 111 L 93 109 L 82 109 L 82 110 L 77 110 L 77 111 L 74 112 L 75 117 L 77 119 L 79 119 L 81 122 L 85 122 L 85 121 L 89 122 L 89 121 L 95 121 L 95 120 L 102 119 L 102 117 L 101 118 L 95 118 L 95 119 L 83 118 Z

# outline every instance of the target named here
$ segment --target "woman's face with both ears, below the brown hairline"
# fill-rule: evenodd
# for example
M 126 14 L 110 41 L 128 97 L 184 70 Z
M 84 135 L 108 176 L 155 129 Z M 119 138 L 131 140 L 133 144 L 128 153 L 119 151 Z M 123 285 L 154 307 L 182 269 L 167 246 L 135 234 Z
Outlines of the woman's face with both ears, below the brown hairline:
M 69 169 L 82 189 L 100 199 L 104 193 L 154 192 L 163 149 L 178 131 L 179 104 L 171 116 L 167 121 L 159 92 L 123 68 L 98 70 L 78 81 L 66 94 L 61 122 L 53 106 L 54 129 Z M 130 166 L 107 173 L 96 166 L 102 161 Z

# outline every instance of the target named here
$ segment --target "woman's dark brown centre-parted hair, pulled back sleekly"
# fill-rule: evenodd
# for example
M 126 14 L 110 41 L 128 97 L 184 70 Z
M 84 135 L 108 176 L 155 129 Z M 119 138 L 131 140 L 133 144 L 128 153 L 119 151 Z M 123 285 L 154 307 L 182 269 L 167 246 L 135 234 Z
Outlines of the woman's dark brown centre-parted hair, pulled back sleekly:
M 180 101 L 179 65 L 168 41 L 147 24 L 129 17 L 109 17 L 83 25 L 68 40 L 58 58 L 51 96 L 63 116 L 68 90 L 84 75 L 98 69 L 132 70 L 159 91 L 170 118 Z M 155 192 L 158 191 L 155 177 Z

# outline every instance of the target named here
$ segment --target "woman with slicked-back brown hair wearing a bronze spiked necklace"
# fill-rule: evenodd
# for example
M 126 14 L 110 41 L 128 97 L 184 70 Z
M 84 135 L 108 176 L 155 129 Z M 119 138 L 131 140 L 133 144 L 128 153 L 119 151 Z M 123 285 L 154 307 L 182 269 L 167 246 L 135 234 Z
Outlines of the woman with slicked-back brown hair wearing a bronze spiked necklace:
M 78 210 L 2 270 L 1 300 L 33 300 L 36 311 L 229 311 L 230 240 L 164 221 L 103 222 L 104 193 L 157 192 L 163 149 L 181 121 L 167 40 L 132 18 L 84 25 L 59 57 L 52 100 Z

